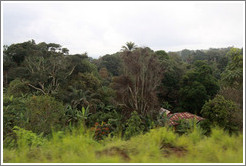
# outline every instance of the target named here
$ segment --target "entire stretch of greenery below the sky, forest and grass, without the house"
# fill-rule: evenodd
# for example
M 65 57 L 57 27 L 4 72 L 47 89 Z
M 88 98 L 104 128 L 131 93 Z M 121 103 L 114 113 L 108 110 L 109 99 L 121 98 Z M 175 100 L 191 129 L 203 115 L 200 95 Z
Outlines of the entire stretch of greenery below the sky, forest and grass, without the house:
M 242 52 L 5 46 L 4 162 L 242 162 Z M 161 107 L 205 120 L 173 127 Z

